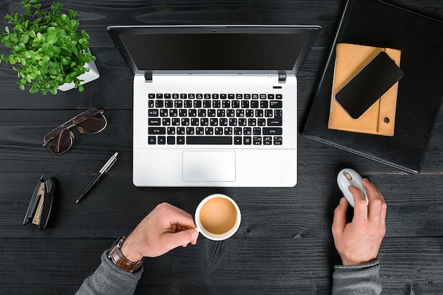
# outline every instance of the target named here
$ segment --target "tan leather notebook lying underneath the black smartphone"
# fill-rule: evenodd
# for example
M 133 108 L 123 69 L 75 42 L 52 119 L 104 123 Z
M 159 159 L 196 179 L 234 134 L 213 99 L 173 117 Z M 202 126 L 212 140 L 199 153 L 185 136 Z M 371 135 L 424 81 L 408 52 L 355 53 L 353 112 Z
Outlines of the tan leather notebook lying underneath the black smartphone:
M 376 54 L 384 51 L 400 66 L 401 51 L 391 48 L 338 43 L 335 53 L 333 90 L 330 100 L 329 129 L 392 137 L 396 120 L 398 82 L 386 91 L 362 116 L 353 119 L 335 101 L 334 96 Z

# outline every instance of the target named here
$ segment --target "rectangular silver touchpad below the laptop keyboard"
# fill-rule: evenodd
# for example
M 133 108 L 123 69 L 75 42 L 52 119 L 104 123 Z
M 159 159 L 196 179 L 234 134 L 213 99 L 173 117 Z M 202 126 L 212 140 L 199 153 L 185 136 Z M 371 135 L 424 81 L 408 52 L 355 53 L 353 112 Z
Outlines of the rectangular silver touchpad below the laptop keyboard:
M 235 180 L 235 151 L 183 151 L 183 181 Z

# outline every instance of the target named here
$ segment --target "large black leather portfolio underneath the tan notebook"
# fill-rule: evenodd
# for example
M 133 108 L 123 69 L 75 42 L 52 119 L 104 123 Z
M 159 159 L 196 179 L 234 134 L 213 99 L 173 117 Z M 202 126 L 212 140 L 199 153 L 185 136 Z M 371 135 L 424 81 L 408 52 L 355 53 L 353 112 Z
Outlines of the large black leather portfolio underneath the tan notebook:
M 328 129 L 338 43 L 401 50 L 393 137 Z M 384 1 L 348 0 L 303 135 L 418 173 L 443 98 L 443 22 Z

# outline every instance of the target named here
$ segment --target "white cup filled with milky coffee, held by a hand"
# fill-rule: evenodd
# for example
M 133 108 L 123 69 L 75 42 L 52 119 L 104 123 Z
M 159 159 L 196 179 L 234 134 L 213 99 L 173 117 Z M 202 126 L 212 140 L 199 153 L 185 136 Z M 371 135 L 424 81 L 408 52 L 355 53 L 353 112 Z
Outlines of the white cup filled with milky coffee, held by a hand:
M 195 210 L 196 230 L 212 241 L 230 238 L 240 226 L 241 213 L 230 197 L 213 194 L 202 199 Z

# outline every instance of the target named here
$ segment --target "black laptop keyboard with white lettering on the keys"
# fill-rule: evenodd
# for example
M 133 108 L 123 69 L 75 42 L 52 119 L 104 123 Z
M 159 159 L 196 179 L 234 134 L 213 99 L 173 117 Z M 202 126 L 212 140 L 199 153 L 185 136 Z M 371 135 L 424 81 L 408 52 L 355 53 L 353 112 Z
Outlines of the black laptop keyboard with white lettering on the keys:
M 149 93 L 148 144 L 282 145 L 282 95 Z

